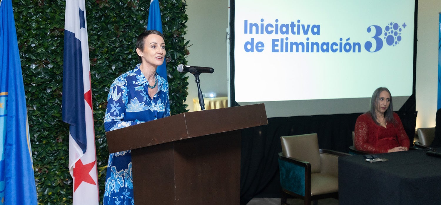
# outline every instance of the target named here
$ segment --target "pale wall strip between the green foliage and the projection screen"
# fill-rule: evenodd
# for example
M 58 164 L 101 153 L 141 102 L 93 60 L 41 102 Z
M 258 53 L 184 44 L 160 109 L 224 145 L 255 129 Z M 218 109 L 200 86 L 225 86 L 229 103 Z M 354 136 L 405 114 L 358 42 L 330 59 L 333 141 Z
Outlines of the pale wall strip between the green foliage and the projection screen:
M 202 93 L 214 92 L 217 97 L 227 96 L 227 42 L 228 0 L 186 0 L 188 15 L 187 34 L 190 40 L 188 65 L 211 67 L 211 74 L 199 76 Z M 193 98 L 198 97 L 194 76 L 188 73 L 188 96 L 185 104 L 193 111 Z

